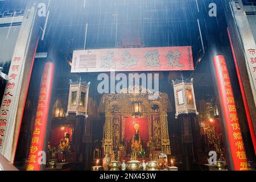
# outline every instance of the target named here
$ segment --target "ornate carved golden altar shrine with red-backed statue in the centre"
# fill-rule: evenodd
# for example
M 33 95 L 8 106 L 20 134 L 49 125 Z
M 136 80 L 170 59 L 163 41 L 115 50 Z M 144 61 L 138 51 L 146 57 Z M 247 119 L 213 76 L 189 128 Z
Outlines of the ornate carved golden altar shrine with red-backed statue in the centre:
M 168 95 L 153 94 L 141 86 L 125 91 L 101 98 L 98 111 L 106 118 L 103 153 L 118 161 L 137 157 L 142 149 L 150 160 L 160 152 L 170 155 L 167 112 L 172 111 L 172 106 Z M 134 113 L 133 107 L 140 110 L 139 114 Z

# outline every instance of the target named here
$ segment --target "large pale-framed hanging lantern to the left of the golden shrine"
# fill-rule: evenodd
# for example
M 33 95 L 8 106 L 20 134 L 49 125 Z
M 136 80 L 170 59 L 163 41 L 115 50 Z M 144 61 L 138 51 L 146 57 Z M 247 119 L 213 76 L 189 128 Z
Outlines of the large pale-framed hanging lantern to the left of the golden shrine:
M 81 82 L 80 78 L 79 82 L 72 82 L 72 80 L 70 80 L 69 84 L 67 113 L 76 113 L 76 115 L 88 117 L 87 106 L 90 82 Z

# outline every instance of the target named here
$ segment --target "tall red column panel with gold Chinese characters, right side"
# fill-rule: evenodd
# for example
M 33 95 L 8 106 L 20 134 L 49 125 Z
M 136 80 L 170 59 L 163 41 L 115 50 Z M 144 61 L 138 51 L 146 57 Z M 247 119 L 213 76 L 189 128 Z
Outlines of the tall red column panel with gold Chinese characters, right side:
M 238 121 L 236 104 L 234 101 L 233 89 L 230 81 L 228 67 L 224 56 L 218 55 L 213 57 L 214 70 L 220 92 L 221 110 L 223 111 L 226 130 L 229 138 L 230 151 L 234 169 L 236 171 L 247 171 L 248 163 L 245 154 L 240 124 Z

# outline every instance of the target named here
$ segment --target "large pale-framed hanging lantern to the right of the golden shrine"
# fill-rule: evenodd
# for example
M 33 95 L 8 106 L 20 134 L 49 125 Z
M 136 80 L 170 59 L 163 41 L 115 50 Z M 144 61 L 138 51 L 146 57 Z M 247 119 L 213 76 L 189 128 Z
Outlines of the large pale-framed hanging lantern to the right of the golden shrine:
M 184 77 L 181 80 L 172 80 L 174 85 L 174 98 L 175 98 L 175 118 L 180 114 L 195 113 L 199 114 L 196 110 L 195 94 L 193 89 L 193 78 L 185 81 Z

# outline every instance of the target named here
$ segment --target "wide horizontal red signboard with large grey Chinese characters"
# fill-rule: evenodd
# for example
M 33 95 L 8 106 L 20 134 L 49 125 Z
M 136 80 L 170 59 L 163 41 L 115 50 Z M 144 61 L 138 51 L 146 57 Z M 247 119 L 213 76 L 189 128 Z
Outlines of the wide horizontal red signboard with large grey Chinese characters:
M 150 47 L 89 49 L 73 52 L 72 73 L 112 71 L 192 71 L 192 49 Z

